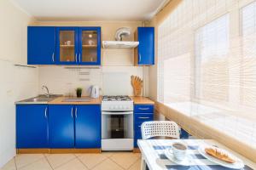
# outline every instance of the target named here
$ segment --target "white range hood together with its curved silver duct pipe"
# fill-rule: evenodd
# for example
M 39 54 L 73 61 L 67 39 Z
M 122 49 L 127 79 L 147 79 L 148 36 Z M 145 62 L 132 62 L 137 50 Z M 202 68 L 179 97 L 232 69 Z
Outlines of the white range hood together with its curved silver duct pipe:
M 116 41 L 102 41 L 103 48 L 112 48 L 112 49 L 131 49 L 136 48 L 139 42 L 127 42 L 122 41 L 123 37 L 130 37 L 131 28 L 121 27 L 115 32 Z

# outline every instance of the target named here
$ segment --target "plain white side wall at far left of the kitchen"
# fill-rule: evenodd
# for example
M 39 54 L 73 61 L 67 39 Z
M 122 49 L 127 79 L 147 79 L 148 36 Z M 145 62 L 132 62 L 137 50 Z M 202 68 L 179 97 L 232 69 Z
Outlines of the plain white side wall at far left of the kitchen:
M 32 18 L 0 1 L 0 167 L 15 156 L 15 101 L 38 94 L 38 69 L 26 64 L 26 26 Z

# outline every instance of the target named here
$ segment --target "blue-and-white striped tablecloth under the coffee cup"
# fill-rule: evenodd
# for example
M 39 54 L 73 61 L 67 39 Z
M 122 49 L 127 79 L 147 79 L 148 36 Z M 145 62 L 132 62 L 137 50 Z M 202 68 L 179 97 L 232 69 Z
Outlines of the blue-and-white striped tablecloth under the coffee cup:
M 206 140 L 201 139 L 182 139 L 182 141 L 189 146 L 188 155 L 193 159 L 190 166 L 177 165 L 167 159 L 165 150 L 171 148 L 172 142 L 181 140 L 171 139 L 148 139 L 139 140 L 138 145 L 143 154 L 143 157 L 150 170 L 230 170 L 228 167 L 219 166 L 212 161 L 208 161 L 204 156 L 198 152 L 200 144 L 205 143 Z M 253 168 L 245 167 L 243 170 L 252 170 Z

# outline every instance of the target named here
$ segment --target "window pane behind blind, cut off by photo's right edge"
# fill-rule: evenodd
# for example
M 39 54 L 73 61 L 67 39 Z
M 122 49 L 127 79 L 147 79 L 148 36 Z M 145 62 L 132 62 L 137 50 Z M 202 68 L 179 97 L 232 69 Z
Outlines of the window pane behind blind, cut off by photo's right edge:
M 256 2 L 241 8 L 241 103 L 256 108 Z

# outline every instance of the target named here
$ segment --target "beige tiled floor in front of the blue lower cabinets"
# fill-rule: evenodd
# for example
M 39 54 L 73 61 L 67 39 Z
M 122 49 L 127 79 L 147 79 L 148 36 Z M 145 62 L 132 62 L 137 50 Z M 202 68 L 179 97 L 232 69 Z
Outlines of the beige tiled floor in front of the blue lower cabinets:
M 102 154 L 22 154 L 1 170 L 139 170 L 141 155 L 132 152 Z

